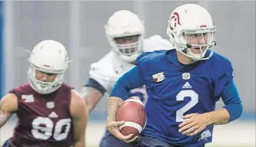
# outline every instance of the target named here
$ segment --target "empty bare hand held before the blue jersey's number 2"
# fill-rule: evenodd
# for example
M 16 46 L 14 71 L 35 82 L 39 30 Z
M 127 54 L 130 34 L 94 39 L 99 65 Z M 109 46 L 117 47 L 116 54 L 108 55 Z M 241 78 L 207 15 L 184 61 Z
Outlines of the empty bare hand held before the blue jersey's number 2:
M 185 121 L 178 126 L 180 128 L 178 132 L 186 136 L 194 136 L 205 129 L 209 117 L 205 114 L 192 113 L 183 116 L 183 119 Z

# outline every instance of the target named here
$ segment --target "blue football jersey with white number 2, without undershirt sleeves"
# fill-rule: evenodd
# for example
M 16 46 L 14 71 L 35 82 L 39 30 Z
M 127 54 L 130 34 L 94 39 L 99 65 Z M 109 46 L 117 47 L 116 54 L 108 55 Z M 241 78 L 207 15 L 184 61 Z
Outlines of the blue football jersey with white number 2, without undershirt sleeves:
M 178 132 L 178 125 L 187 114 L 214 111 L 221 91 L 234 76 L 230 61 L 214 53 L 209 60 L 185 65 L 171 50 L 142 54 L 137 64 L 148 93 L 148 120 L 141 134 L 177 145 L 211 142 L 213 126 L 195 136 L 185 136 Z

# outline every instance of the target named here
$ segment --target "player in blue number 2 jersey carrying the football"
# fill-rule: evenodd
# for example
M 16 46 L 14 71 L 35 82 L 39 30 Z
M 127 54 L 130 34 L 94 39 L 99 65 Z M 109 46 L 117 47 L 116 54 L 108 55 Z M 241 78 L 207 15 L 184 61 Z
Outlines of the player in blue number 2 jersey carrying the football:
M 108 100 L 108 130 L 134 146 L 204 146 L 214 125 L 230 123 L 242 113 L 231 62 L 213 51 L 216 27 L 200 5 L 175 8 L 167 34 L 175 50 L 141 54 L 137 66 L 119 78 Z M 147 124 L 139 136 L 123 136 L 116 122 L 128 91 L 145 85 Z M 224 106 L 215 109 L 222 99 Z

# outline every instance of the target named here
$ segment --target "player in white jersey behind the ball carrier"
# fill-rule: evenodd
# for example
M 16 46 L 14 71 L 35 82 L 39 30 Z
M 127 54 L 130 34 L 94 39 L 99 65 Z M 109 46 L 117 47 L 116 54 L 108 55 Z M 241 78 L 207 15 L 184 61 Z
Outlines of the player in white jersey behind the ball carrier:
M 135 60 L 143 52 L 173 48 L 170 41 L 159 35 L 145 39 L 143 21 L 135 13 L 128 10 L 116 11 L 111 15 L 108 24 L 105 25 L 105 34 L 111 45 L 111 51 L 98 62 L 91 64 L 90 77 L 81 90 L 89 112 L 94 109 L 105 93 L 111 91 L 119 77 L 135 67 Z M 131 90 L 129 96 L 138 96 L 144 103 L 148 97 L 145 87 Z M 100 146 L 125 147 L 128 144 L 116 139 L 115 136 L 106 131 Z

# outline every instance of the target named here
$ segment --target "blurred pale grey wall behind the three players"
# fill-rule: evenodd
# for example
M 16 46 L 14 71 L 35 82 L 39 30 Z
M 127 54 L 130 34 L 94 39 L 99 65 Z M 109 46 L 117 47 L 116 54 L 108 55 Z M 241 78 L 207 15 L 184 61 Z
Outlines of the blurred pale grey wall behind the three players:
M 2 94 L 27 81 L 28 54 L 45 39 L 65 44 L 74 60 L 65 75 L 78 91 L 88 78 L 89 65 L 110 51 L 104 24 L 114 11 L 128 9 L 145 21 L 148 38 L 160 34 L 167 38 L 171 11 L 178 5 L 195 3 L 210 11 L 217 25 L 215 51 L 231 60 L 234 81 L 244 105 L 242 119 L 255 117 L 255 2 L 245 1 L 8 1 L 4 17 L 4 66 Z M 4 82 L 5 80 L 5 82 Z M 222 103 L 218 103 L 218 107 Z M 90 121 L 105 123 L 107 97 L 91 114 Z M 102 126 L 104 129 L 104 126 Z M 255 131 L 255 129 L 254 129 Z M 255 134 L 255 133 L 254 133 Z M 255 137 L 254 137 L 255 139 Z

